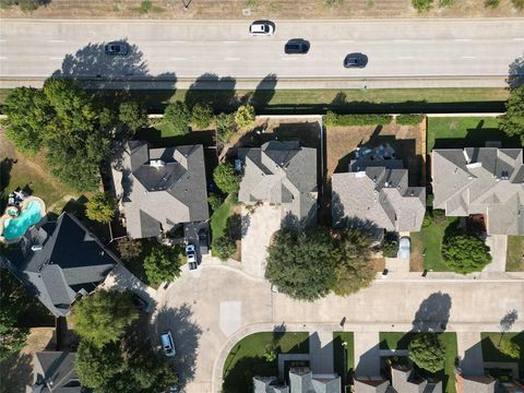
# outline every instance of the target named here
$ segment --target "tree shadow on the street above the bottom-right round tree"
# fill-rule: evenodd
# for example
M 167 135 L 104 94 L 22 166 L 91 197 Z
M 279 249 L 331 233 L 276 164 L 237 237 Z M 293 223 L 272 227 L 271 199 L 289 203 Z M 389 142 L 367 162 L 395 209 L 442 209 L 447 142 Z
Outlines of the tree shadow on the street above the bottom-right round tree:
M 451 296 L 441 291 L 425 299 L 413 320 L 412 332 L 444 332 L 450 319 Z

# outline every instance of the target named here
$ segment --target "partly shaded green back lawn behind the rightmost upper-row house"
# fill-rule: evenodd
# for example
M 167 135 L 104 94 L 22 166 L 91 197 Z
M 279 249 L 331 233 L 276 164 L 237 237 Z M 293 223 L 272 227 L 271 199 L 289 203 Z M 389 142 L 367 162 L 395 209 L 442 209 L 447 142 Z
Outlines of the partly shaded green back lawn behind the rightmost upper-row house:
M 498 129 L 499 119 L 490 117 L 428 119 L 428 152 L 433 147 L 483 147 L 486 141 L 502 141 L 503 146 L 520 146 Z

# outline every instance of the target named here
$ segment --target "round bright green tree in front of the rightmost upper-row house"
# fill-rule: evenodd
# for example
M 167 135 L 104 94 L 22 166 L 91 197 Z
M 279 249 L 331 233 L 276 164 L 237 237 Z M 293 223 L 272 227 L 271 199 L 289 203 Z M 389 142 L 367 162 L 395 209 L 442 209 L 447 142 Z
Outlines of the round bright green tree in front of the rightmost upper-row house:
M 489 247 L 480 238 L 458 230 L 444 237 L 442 258 L 448 266 L 461 274 L 479 272 L 491 262 Z

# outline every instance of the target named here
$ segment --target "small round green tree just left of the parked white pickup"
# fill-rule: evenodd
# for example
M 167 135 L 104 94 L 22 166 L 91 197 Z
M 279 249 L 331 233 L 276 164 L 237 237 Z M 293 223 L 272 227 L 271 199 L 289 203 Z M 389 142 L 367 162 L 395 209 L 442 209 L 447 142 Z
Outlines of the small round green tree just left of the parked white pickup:
M 180 275 L 181 251 L 178 247 L 158 246 L 144 259 L 147 279 L 153 285 L 170 282 Z

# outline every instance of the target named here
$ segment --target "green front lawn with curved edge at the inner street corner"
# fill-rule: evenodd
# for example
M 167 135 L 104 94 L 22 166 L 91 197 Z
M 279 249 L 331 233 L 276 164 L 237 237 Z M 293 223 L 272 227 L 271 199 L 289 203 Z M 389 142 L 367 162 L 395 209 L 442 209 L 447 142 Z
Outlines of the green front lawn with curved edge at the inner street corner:
M 246 393 L 253 389 L 254 376 L 278 377 L 277 359 L 266 361 L 264 352 L 274 341 L 279 354 L 308 354 L 309 333 L 254 333 L 235 345 L 224 365 L 224 393 Z

